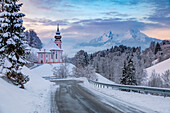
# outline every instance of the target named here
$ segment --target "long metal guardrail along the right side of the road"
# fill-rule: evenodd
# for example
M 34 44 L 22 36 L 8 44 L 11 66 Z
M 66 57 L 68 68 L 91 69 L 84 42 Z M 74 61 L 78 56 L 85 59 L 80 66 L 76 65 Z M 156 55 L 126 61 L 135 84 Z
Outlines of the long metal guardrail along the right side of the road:
M 163 95 L 164 97 L 170 96 L 170 89 L 167 88 L 155 88 L 155 87 L 145 87 L 145 86 L 131 86 L 131 85 L 119 85 L 119 84 L 106 84 L 100 83 L 92 80 L 88 80 L 89 83 L 100 87 L 100 88 L 112 88 L 112 89 L 119 89 L 119 90 L 129 90 L 139 93 L 151 93 L 151 94 L 159 94 Z

